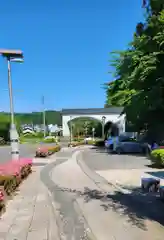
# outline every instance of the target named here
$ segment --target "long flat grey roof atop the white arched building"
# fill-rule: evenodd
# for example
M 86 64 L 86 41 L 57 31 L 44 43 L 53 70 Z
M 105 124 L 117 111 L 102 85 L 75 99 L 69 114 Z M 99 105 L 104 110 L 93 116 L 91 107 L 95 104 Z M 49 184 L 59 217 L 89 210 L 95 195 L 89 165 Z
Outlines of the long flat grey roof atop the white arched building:
M 81 108 L 81 109 L 62 109 L 62 115 L 84 115 L 84 114 L 121 114 L 123 107 L 110 108 Z

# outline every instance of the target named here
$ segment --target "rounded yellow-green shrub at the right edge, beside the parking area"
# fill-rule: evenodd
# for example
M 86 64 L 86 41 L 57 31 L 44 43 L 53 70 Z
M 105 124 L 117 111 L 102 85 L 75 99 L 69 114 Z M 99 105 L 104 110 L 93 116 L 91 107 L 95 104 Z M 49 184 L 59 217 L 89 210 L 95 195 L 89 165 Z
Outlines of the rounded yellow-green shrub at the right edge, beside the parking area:
M 155 149 L 150 154 L 152 164 L 156 167 L 164 167 L 164 149 Z

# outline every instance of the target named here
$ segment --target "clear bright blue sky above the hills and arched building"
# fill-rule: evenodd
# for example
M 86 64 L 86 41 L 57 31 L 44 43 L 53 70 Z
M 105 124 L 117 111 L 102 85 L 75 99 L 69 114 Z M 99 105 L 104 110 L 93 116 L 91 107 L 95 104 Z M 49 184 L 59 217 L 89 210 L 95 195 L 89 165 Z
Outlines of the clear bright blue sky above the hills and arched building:
M 143 19 L 141 0 L 5 0 L 0 48 L 24 51 L 12 63 L 16 112 L 103 107 L 110 52 L 125 49 Z M 0 111 L 9 111 L 7 64 L 0 58 Z

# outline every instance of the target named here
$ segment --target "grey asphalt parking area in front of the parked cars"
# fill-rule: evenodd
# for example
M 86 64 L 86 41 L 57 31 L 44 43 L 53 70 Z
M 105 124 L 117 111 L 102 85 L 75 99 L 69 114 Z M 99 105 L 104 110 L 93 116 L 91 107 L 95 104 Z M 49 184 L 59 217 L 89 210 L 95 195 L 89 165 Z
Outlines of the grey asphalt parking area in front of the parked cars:
M 143 169 L 150 161 L 140 155 L 110 154 L 105 149 L 92 148 L 83 153 L 85 163 L 94 171 L 108 169 Z

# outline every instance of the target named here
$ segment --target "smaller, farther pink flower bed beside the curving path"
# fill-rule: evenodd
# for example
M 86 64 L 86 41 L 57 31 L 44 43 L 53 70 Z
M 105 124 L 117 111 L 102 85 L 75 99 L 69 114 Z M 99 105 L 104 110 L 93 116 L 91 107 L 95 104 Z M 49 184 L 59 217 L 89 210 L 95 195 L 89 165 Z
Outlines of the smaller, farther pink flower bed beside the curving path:
M 48 147 L 39 147 L 36 150 L 36 157 L 48 157 L 55 152 L 59 152 L 61 149 L 60 145 L 48 146 Z

